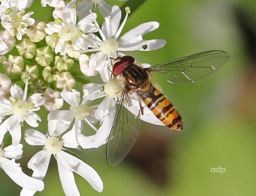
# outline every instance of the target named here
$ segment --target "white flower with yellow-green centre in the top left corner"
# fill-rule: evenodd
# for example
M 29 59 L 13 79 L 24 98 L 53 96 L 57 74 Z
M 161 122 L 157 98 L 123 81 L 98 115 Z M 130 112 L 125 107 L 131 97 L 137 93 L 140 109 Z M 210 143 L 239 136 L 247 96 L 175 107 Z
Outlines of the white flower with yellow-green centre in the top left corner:
M 24 3 L 19 0 L 2 1 L 0 5 L 2 26 L 9 31 L 12 37 L 16 35 L 18 40 L 29 32 L 27 27 L 35 23 L 35 20 L 30 18 L 33 12 L 25 13 L 26 5 L 27 1 Z

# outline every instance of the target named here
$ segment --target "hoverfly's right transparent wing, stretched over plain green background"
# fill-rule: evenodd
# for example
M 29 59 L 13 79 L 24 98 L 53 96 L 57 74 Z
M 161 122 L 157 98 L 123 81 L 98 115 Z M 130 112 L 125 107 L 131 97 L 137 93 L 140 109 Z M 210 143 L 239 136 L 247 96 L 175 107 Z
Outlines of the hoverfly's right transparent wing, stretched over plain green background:
M 189 83 L 221 69 L 229 61 L 229 58 L 230 55 L 225 51 L 210 50 L 154 65 L 147 68 L 147 71 L 166 74 L 166 79 L 170 83 Z

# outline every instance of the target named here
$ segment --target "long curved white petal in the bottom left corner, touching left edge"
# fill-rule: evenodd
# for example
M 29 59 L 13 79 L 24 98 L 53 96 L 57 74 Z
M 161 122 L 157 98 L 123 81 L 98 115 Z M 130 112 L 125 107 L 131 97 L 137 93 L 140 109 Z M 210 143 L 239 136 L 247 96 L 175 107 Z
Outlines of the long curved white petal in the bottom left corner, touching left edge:
M 1 167 L 3 168 L 3 171 L 5 171 L 5 173 L 22 188 L 42 191 L 45 187 L 43 181 L 31 178 L 22 172 L 20 164 L 15 163 L 14 159 L 9 160 L 2 157 Z

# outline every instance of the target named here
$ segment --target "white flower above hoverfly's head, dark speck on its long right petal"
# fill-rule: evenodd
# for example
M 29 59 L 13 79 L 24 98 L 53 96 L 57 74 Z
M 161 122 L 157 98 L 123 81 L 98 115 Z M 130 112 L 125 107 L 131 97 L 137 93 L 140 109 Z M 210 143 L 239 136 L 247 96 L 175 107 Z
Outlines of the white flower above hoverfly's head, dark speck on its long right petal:
M 126 7 L 126 16 L 119 27 L 121 10 L 119 7 L 114 6 L 111 15 L 105 18 L 105 22 L 103 22 L 101 29 L 98 27 L 101 39 L 92 33 L 88 34 L 89 39 L 91 39 L 91 44 L 89 46 L 91 49 L 82 50 L 82 52 L 100 51 L 90 57 L 90 61 L 93 62 L 92 65 L 95 65 L 94 69 L 99 71 L 100 74 L 102 74 L 101 71 L 103 70 L 103 67 L 107 65 L 107 59 L 109 57 L 116 57 L 117 52 L 156 50 L 166 44 L 166 41 L 160 39 L 143 40 L 143 35 L 154 31 L 159 27 L 158 22 L 147 22 L 138 25 L 120 37 L 120 33 L 126 23 L 129 13 L 130 8 Z M 95 23 L 98 25 L 96 21 Z M 108 65 L 110 65 L 110 59 Z

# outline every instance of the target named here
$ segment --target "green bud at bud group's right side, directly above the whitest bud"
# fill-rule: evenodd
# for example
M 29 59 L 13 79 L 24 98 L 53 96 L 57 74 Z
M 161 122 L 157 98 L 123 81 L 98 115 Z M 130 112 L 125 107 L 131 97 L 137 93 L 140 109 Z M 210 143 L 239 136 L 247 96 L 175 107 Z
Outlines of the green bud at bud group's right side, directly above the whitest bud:
M 56 66 L 56 69 L 60 72 L 64 71 L 70 71 L 71 68 L 74 66 L 75 61 L 71 59 L 69 56 L 56 56 L 54 65 Z

